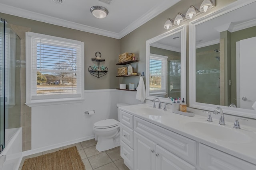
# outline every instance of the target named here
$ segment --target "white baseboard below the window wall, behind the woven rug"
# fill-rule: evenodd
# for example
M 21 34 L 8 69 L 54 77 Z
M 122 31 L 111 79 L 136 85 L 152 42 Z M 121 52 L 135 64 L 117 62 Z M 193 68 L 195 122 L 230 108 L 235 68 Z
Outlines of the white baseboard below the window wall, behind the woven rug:
M 72 140 L 72 141 L 67 141 L 67 142 L 63 142 L 63 143 L 50 145 L 50 146 L 47 146 L 47 147 L 41 147 L 41 148 L 26 150 L 26 151 L 22 152 L 22 157 L 28 156 L 28 155 L 31 155 L 31 154 L 36 154 L 36 153 L 39 153 L 39 152 L 44 152 L 46 150 L 56 149 L 56 148 L 64 147 L 64 146 L 67 146 L 67 145 L 72 145 L 74 143 L 88 141 L 90 139 L 94 139 L 94 135 L 91 135 L 91 136 L 88 136 L 88 137 L 82 137 L 82 138 L 75 139 L 75 140 Z

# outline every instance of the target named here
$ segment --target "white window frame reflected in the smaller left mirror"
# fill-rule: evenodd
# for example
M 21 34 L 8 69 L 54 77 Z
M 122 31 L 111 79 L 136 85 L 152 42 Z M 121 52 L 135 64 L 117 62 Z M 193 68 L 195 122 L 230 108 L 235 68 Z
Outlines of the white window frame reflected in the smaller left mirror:
M 164 64 L 162 66 L 162 73 L 163 73 L 163 79 L 161 79 L 161 90 L 150 90 L 149 89 L 149 95 L 153 96 L 162 96 L 167 94 L 167 59 L 168 56 L 164 55 L 157 55 L 150 53 L 149 57 L 149 72 L 150 72 L 150 59 L 155 59 L 159 61 L 163 61 Z M 165 71 L 164 71 L 165 70 Z M 149 86 L 150 88 L 150 86 Z

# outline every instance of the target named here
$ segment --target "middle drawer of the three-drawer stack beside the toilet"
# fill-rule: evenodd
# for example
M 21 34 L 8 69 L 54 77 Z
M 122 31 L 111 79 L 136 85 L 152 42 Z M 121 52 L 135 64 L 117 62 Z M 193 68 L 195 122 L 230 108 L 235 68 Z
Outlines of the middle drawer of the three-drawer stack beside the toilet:
M 124 141 L 129 147 L 133 148 L 134 135 L 133 130 L 121 123 L 121 140 Z

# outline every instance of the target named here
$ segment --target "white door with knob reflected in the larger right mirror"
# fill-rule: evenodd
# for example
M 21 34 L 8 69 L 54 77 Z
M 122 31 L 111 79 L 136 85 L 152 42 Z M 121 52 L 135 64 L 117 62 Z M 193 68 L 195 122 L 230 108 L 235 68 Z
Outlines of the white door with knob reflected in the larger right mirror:
M 256 101 L 256 37 L 241 40 L 239 46 L 240 98 L 237 101 L 240 102 L 240 108 L 252 109 L 252 105 Z

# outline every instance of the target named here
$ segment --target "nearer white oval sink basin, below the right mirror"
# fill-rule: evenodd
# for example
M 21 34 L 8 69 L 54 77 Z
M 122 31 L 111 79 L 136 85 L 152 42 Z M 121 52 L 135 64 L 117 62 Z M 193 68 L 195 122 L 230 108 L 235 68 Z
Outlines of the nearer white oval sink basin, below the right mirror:
M 182 121 L 181 121 L 182 122 Z M 218 141 L 228 141 L 229 143 L 250 143 L 251 137 L 244 133 L 242 129 L 234 129 L 226 125 L 218 125 L 206 120 L 185 121 L 184 127 L 190 129 L 192 133 L 210 137 Z

